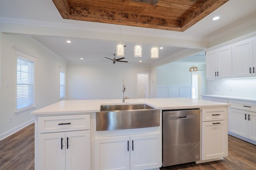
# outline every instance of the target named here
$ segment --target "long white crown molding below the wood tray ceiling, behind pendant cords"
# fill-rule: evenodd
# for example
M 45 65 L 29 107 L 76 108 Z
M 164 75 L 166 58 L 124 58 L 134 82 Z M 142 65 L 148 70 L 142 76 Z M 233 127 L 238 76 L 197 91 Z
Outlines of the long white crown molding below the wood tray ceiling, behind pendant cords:
M 76 29 L 85 31 L 96 31 L 105 33 L 119 33 L 120 25 L 107 24 L 107 23 L 94 23 L 88 21 L 77 21 L 80 23 L 63 23 L 63 22 L 50 22 L 50 21 L 38 21 L 38 20 L 26 20 L 20 18 L 7 18 L 0 17 L 0 23 L 11 23 L 11 24 L 21 24 L 21 25 L 34 25 L 34 26 L 44 26 L 44 27 L 57 27 L 65 29 Z M 127 35 L 137 35 L 138 28 L 132 26 L 121 25 L 121 33 Z M 210 39 L 208 37 L 197 37 L 190 35 L 182 35 L 182 32 L 176 31 L 166 31 L 156 29 L 156 37 L 160 38 L 170 38 L 170 39 L 181 39 L 190 41 L 207 41 Z M 154 35 L 154 29 L 139 27 L 140 36 L 152 37 Z

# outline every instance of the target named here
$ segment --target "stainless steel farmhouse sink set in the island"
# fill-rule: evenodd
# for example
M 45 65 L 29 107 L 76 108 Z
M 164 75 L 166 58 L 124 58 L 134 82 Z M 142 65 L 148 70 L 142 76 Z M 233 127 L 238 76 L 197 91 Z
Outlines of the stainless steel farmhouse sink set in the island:
M 96 112 L 96 131 L 160 126 L 160 110 L 146 104 L 104 105 Z

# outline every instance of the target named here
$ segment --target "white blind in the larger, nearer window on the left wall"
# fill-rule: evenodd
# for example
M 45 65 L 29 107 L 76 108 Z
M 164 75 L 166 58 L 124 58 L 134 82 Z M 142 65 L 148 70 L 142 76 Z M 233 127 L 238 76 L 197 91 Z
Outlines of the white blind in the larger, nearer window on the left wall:
M 17 57 L 17 110 L 34 105 L 34 62 Z

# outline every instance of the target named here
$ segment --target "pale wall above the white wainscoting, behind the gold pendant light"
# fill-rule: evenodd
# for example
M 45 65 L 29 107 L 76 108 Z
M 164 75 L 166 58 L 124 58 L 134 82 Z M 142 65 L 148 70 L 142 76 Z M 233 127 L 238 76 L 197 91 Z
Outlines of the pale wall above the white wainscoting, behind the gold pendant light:
M 195 63 L 202 74 L 202 94 L 206 94 L 207 81 L 205 76 L 205 64 Z M 157 86 L 192 86 L 192 73 L 189 68 L 192 63 L 173 62 L 156 68 Z

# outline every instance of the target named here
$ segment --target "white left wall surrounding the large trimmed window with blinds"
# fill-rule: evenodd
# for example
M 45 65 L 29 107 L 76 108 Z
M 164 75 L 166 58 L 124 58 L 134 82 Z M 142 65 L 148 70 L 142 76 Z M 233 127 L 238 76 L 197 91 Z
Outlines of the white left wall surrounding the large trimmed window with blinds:
M 15 113 L 16 103 L 16 56 L 12 46 L 20 47 L 38 55 L 35 64 L 35 104 L 36 107 Z M 0 139 L 9 133 L 19 130 L 24 123 L 31 123 L 34 116 L 31 111 L 59 101 L 59 66 L 66 68 L 60 61 L 38 45 L 21 35 L 1 33 L 1 88 L 0 88 Z M 5 82 L 10 87 L 5 87 Z M 9 118 L 12 117 L 12 123 Z

